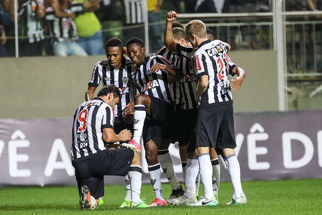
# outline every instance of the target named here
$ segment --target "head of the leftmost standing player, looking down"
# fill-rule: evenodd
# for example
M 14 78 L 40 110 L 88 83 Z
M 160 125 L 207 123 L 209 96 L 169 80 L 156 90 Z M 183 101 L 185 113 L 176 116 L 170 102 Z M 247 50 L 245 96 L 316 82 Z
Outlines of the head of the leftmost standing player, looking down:
M 123 42 L 119 38 L 109 39 L 105 44 L 106 57 L 113 68 L 120 68 L 123 56 Z

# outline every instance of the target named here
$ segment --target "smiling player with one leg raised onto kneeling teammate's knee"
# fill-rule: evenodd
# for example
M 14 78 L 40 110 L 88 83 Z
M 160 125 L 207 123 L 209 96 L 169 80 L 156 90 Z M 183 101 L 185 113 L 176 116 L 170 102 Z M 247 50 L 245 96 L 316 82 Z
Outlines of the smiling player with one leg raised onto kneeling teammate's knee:
M 174 82 L 177 73 L 166 58 L 159 55 L 147 57 L 141 39 L 131 38 L 126 46 L 130 59 L 137 65 L 133 79 L 141 93 L 134 99 L 134 133 L 130 142 L 138 143 L 143 137 L 145 159 L 155 192 L 150 206 L 165 206 L 158 149 L 163 142 L 169 144 L 173 137 L 174 105 L 169 84 Z

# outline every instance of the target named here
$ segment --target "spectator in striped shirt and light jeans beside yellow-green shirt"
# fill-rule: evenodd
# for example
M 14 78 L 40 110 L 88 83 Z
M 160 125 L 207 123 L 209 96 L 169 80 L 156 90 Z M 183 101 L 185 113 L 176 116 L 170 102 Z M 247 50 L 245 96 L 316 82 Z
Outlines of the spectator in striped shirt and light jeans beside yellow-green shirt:
M 81 11 L 84 11 L 84 5 L 75 5 L 72 8 L 68 0 L 59 0 L 59 7 L 56 10 L 52 7 L 46 9 L 46 20 L 54 40 L 53 52 L 56 56 L 87 56 L 86 51 L 76 42 L 78 39 L 77 29 L 71 19 L 75 13 Z M 64 16 L 64 14 L 67 14 L 68 17 L 57 17 Z

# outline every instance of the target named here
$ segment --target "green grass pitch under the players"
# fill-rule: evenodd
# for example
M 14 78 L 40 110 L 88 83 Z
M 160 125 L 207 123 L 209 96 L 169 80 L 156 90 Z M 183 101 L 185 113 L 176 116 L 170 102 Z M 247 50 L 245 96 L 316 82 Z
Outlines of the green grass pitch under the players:
M 169 184 L 163 184 L 165 197 Z M 104 205 L 95 211 L 82 211 L 76 187 L 5 187 L 0 188 L 2 214 L 322 214 L 322 179 L 243 182 L 248 203 L 225 205 L 231 199 L 230 183 L 221 183 L 219 204 L 208 207 L 167 206 L 120 209 L 124 186 L 106 186 Z M 202 186 L 200 187 L 202 190 Z M 141 197 L 149 203 L 151 185 L 142 186 Z

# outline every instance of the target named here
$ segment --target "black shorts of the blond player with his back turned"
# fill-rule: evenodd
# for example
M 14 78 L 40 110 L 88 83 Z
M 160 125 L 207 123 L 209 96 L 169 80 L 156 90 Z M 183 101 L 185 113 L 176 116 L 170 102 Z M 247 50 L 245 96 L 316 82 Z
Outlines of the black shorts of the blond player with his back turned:
M 232 104 L 199 109 L 196 137 L 197 147 L 236 148 Z

